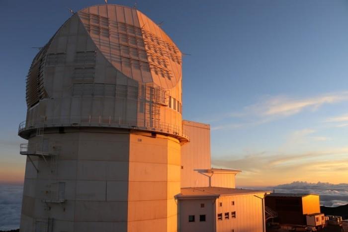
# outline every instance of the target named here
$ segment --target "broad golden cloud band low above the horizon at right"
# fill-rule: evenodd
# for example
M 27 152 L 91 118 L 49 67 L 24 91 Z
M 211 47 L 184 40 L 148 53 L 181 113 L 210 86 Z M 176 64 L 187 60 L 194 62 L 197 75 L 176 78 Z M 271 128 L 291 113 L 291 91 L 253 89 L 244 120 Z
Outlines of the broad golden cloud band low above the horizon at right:
M 243 172 L 238 179 L 245 185 L 264 185 L 294 179 L 306 181 L 344 181 L 348 179 L 348 147 L 285 153 L 260 152 L 212 157 L 212 164 Z M 335 176 L 335 178 L 333 178 Z

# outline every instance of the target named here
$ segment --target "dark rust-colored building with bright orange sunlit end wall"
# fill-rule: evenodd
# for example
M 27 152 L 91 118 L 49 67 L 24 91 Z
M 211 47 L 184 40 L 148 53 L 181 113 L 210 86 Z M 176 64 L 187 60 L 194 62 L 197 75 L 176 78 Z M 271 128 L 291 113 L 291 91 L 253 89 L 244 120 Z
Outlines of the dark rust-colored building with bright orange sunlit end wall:
M 306 225 L 306 215 L 320 213 L 320 199 L 316 194 L 271 193 L 265 197 L 265 206 L 278 214 L 281 224 Z

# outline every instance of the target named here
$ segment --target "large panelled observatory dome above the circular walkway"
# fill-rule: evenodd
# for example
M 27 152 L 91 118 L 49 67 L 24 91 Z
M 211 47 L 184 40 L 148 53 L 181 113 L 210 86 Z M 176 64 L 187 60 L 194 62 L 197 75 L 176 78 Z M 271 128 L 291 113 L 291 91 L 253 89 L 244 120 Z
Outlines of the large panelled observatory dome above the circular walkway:
M 104 4 L 74 13 L 34 58 L 26 101 L 20 131 L 43 121 L 46 127 L 132 128 L 185 140 L 181 52 L 135 8 Z

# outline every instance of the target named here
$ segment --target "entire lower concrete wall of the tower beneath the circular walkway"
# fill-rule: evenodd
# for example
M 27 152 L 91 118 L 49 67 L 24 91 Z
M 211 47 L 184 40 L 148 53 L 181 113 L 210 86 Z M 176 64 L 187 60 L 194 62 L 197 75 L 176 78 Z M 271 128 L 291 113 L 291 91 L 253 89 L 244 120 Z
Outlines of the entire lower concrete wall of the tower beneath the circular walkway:
M 57 132 L 45 133 L 58 151 L 57 164 L 32 156 L 37 173 L 26 162 L 22 232 L 33 232 L 40 223 L 47 226 L 48 218 L 54 220 L 53 232 L 176 232 L 177 140 L 100 128 Z M 57 182 L 65 184 L 65 202 L 44 203 L 52 199 Z

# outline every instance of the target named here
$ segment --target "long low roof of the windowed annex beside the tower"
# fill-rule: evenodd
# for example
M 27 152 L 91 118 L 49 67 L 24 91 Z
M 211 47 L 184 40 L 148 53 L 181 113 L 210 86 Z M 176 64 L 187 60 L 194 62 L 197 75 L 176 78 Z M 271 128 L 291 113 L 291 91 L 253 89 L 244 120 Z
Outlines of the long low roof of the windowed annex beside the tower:
M 181 192 L 175 196 L 178 199 L 187 198 L 218 198 L 220 196 L 230 195 L 246 195 L 269 193 L 264 190 L 251 190 L 239 188 L 222 188 L 222 187 L 197 187 L 197 188 L 181 188 Z

